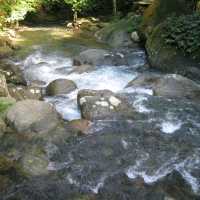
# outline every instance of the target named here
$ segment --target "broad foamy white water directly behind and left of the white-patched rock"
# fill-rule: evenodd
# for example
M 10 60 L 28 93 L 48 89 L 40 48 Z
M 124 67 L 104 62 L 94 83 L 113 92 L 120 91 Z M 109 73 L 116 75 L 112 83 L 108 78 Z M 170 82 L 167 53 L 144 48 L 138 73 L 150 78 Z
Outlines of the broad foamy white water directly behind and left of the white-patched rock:
M 136 72 L 130 72 L 127 66 L 99 66 L 91 72 L 70 73 L 73 71 L 72 59 L 59 54 L 45 55 L 36 50 L 22 63 L 26 80 L 31 82 L 50 82 L 64 78 L 73 80 L 78 90 L 111 90 L 118 92 L 137 76 Z M 138 63 L 137 63 L 138 64 Z M 80 111 L 77 106 L 78 90 L 56 97 L 46 97 L 45 100 L 52 103 L 57 111 L 66 120 L 80 119 Z

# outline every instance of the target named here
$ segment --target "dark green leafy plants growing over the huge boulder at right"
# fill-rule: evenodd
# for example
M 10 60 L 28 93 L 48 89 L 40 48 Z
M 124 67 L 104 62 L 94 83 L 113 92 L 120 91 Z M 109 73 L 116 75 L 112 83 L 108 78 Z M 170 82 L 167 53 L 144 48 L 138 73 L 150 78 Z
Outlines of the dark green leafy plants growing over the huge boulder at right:
M 184 54 L 195 55 L 200 49 L 200 14 L 171 16 L 164 24 L 162 38 Z

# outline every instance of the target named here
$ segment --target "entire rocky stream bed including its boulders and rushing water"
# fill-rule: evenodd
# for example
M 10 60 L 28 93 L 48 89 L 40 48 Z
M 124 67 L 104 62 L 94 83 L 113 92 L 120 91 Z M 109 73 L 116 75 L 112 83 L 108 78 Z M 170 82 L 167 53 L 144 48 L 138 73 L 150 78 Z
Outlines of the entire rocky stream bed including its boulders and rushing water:
M 115 37 L 19 32 L 1 61 L 0 199 L 200 198 L 200 85 Z

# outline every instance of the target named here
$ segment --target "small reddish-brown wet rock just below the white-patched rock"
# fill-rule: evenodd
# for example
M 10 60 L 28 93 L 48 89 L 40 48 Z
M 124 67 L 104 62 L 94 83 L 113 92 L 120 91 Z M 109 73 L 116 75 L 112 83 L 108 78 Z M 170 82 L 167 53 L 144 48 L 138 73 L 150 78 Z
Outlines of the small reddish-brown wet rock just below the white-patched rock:
M 77 119 L 68 122 L 68 127 L 76 135 L 87 135 L 91 122 L 85 119 Z

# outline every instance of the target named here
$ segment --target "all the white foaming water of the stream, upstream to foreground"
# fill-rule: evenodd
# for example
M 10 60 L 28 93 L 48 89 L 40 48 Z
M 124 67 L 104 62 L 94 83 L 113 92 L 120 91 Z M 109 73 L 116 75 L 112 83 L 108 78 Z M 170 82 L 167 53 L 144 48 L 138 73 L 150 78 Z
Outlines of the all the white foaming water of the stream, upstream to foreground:
M 71 92 L 70 94 L 63 94 L 61 96 L 54 97 L 45 97 L 45 101 L 50 102 L 55 106 L 57 111 L 63 116 L 66 120 L 80 119 L 80 111 L 77 106 L 77 94 L 81 89 L 93 89 L 93 90 L 103 90 L 108 89 L 113 92 L 135 92 L 136 99 L 133 102 L 134 107 L 140 113 L 153 113 L 153 109 L 149 109 L 145 106 L 144 102 L 148 101 L 148 97 L 153 95 L 151 90 L 146 88 L 125 88 L 125 86 L 134 78 L 138 76 L 136 68 L 139 65 L 144 65 L 144 52 L 138 50 L 142 55 L 141 58 L 137 58 L 137 62 L 132 66 L 98 66 L 94 67 L 94 70 L 84 73 L 72 72 L 74 69 L 72 58 L 65 57 L 59 53 L 50 53 L 44 54 L 42 50 L 36 49 L 32 54 L 26 57 L 24 60 L 18 62 L 22 66 L 24 71 L 25 78 L 28 83 L 44 82 L 42 87 L 47 86 L 50 82 L 56 79 L 64 78 L 73 80 L 78 89 Z M 136 53 L 138 53 L 136 52 Z M 152 120 L 152 119 L 150 119 Z M 166 116 L 163 119 L 159 119 L 159 129 L 164 134 L 172 135 L 174 132 L 179 130 L 184 124 L 183 121 L 178 119 L 176 116 L 169 115 L 166 113 Z M 125 149 L 128 149 L 128 141 L 123 140 L 122 145 Z M 198 151 L 199 153 L 199 151 Z M 181 172 L 183 177 L 192 185 L 192 188 L 195 192 L 199 191 L 199 180 L 194 178 L 190 173 L 190 169 L 196 167 L 196 165 L 188 164 L 189 159 L 193 159 L 193 163 L 199 163 L 199 156 L 194 158 L 188 158 L 180 164 L 176 164 L 176 156 L 171 158 L 169 161 L 166 161 L 153 175 L 148 175 L 146 171 L 142 170 L 141 166 L 144 165 L 145 159 L 141 158 L 136 162 L 135 166 L 130 166 L 126 174 L 129 178 L 135 178 L 137 176 L 142 176 L 147 183 L 152 183 L 157 181 L 159 178 L 165 176 L 167 173 L 173 169 L 177 169 Z M 54 168 L 51 166 L 51 169 Z M 78 184 L 77 180 L 73 180 L 73 177 L 69 175 L 69 180 L 74 184 Z M 98 192 L 99 187 L 103 186 L 103 181 L 100 179 L 100 182 L 97 186 L 91 186 L 91 190 L 95 193 Z

